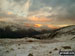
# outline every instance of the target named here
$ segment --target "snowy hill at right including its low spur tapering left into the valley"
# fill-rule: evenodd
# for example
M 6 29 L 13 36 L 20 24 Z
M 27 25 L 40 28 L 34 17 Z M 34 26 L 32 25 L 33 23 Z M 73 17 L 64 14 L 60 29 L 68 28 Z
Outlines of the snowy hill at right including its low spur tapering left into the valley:
M 72 40 L 75 39 L 75 25 L 62 27 L 52 31 L 51 33 L 45 33 L 35 35 L 33 38 L 37 39 L 56 39 L 56 40 Z

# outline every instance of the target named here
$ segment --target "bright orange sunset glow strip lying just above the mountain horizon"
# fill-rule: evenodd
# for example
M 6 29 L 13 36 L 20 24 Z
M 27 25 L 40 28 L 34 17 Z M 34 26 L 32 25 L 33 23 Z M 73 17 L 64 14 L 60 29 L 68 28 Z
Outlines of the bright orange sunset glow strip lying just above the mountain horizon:
M 51 28 L 51 29 L 58 29 L 58 28 L 61 28 L 61 27 L 68 26 L 68 25 L 29 24 L 29 23 L 24 23 L 24 25 L 26 27 L 36 27 L 36 28 L 48 27 L 48 28 Z

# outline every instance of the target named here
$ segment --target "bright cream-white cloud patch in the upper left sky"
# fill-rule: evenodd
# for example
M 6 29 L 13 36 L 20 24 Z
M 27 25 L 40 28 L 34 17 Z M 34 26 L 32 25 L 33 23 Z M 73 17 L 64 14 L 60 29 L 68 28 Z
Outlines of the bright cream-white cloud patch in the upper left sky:
M 14 2 L 13 0 L 1 0 L 0 8 L 2 11 L 10 11 L 15 15 L 26 17 L 28 15 L 30 5 L 30 0 L 27 0 L 23 4 Z

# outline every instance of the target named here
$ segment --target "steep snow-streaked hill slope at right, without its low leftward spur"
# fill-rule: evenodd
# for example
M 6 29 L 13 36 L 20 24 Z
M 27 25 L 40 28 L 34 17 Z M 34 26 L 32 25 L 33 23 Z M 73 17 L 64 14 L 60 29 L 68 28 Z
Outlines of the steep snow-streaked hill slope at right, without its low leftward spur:
M 51 39 L 57 40 L 74 40 L 75 39 L 75 25 L 60 28 L 49 35 Z

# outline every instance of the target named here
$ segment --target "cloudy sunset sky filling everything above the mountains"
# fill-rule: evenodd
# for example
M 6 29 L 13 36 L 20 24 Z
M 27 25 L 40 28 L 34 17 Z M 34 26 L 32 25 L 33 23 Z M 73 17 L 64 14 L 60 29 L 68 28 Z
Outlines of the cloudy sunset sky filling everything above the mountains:
M 75 0 L 0 0 L 0 21 L 35 27 L 75 25 Z

